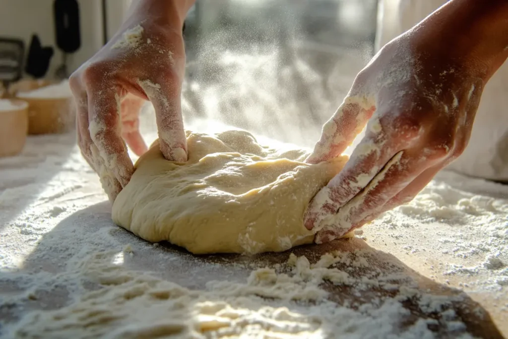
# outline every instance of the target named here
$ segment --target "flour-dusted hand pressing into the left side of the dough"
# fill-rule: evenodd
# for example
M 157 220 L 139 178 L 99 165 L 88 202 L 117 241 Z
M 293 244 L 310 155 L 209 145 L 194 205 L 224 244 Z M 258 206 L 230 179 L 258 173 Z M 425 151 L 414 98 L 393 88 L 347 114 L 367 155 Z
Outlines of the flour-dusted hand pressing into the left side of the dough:
M 155 108 L 165 158 L 187 160 L 180 104 L 185 66 L 183 20 L 171 19 L 135 11 L 111 41 L 70 78 L 77 103 L 78 145 L 110 200 L 134 171 L 125 143 L 137 155 L 147 149 L 139 132 L 144 100 Z

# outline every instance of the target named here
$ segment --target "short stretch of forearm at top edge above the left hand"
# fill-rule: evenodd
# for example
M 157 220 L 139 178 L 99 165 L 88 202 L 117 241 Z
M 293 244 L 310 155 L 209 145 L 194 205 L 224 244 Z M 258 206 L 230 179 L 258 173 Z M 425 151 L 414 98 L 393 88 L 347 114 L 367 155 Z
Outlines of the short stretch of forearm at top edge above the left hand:
M 132 17 L 142 17 L 181 29 L 187 12 L 195 2 L 196 0 L 133 0 L 126 21 Z

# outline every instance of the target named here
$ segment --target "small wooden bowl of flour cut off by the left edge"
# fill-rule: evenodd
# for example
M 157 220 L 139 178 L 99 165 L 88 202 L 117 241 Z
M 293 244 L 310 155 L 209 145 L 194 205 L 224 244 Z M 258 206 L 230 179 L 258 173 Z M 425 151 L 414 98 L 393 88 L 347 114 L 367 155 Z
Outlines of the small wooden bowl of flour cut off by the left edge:
M 28 103 L 0 99 L 0 157 L 15 156 L 23 149 L 28 133 Z

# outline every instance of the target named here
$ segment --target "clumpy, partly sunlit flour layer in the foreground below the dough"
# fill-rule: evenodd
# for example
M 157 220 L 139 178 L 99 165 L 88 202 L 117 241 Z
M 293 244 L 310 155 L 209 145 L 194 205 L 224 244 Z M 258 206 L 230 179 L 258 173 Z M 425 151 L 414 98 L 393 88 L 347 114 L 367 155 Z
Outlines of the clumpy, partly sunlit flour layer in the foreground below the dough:
M 451 332 L 458 335 L 465 330 L 455 312 L 448 309 L 453 302 L 450 297 L 436 298 L 406 288 L 394 298 L 358 309 L 327 300 L 328 292 L 320 287 L 324 281 L 363 284 L 363 279 L 358 281 L 338 268 L 328 268 L 335 257 L 331 264 L 324 264 L 322 258 L 320 264 L 311 265 L 307 258 L 292 254 L 278 271 L 260 268 L 252 271 L 246 282 L 211 281 L 203 290 L 189 290 L 154 275 L 126 270 L 117 257 L 118 253 L 103 252 L 78 263 L 75 274 L 104 287 L 64 309 L 28 315 L 13 329 L 14 335 L 331 338 L 347 333 L 349 337 L 385 338 L 395 330 L 398 337 L 433 338 L 427 324 L 439 321 L 432 318 L 396 329 L 410 316 L 401 304 L 407 298 L 418 298 L 420 307 L 429 314 L 441 312 L 441 321 Z

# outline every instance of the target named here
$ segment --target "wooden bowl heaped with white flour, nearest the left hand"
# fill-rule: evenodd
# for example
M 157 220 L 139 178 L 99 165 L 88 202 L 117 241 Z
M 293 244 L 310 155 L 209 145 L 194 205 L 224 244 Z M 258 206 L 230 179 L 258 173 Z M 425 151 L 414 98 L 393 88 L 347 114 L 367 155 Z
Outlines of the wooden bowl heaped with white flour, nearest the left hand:
M 74 105 L 66 84 L 18 93 L 17 98 L 28 103 L 28 134 L 66 133 L 73 128 Z

